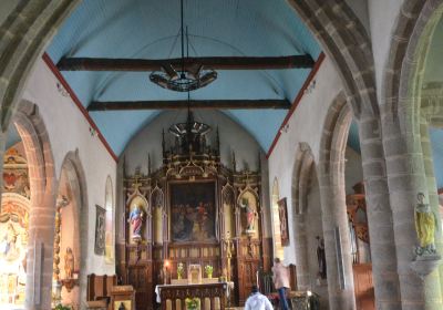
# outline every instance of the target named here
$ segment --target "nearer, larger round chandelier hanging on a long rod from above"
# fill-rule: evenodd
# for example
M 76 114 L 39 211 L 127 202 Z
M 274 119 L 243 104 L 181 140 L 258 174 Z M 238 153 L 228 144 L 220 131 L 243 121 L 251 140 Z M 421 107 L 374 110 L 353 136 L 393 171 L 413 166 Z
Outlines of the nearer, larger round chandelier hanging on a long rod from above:
M 174 68 L 171 63 L 162 65 L 162 71 L 154 71 L 150 74 L 151 82 L 163 89 L 175 92 L 189 92 L 202 89 L 217 79 L 217 72 L 204 68 L 199 63 L 186 63 L 185 59 L 185 33 L 183 27 L 183 0 L 181 0 L 181 37 L 182 37 L 182 65 Z M 186 45 L 189 44 L 189 38 L 186 30 Z M 187 55 L 189 51 L 187 49 Z

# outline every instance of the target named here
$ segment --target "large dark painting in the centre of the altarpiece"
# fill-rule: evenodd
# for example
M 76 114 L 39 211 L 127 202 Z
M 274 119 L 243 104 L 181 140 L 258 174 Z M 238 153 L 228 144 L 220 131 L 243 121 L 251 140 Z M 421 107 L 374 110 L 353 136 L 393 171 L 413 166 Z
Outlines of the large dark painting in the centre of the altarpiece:
M 174 242 L 216 240 L 215 183 L 171 185 L 171 235 Z

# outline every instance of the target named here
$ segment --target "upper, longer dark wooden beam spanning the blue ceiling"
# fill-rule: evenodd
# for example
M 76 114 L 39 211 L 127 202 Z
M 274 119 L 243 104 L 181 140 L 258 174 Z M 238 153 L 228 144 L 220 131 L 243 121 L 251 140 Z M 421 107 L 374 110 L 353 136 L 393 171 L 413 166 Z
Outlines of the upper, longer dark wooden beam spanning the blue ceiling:
M 210 56 L 187 58 L 185 66 L 203 64 L 214 70 L 280 70 L 310 69 L 315 61 L 309 54 L 290 56 Z M 182 66 L 182 59 L 150 60 L 150 59 L 104 59 L 104 58 L 62 58 L 56 68 L 60 71 L 135 71 L 150 72 L 162 70 L 172 64 Z

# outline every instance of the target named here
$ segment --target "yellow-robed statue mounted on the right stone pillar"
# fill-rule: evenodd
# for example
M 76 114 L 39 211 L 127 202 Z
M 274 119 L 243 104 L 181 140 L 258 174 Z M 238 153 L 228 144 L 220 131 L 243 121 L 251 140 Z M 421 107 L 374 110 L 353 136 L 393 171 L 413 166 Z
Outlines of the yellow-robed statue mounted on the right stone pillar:
M 420 246 L 415 248 L 418 256 L 435 255 L 434 234 L 436 227 L 436 217 L 429 204 L 424 204 L 424 194 L 416 195 L 419 203 L 415 207 L 414 219 L 415 230 Z

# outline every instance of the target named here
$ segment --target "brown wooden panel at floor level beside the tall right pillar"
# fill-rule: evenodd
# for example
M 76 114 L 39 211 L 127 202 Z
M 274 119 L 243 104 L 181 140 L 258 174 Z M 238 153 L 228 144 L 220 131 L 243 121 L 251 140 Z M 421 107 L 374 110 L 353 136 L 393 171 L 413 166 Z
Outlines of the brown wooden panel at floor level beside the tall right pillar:
M 372 265 L 357 264 L 352 266 L 352 269 L 357 309 L 374 310 L 375 297 L 372 282 Z

